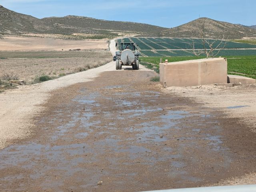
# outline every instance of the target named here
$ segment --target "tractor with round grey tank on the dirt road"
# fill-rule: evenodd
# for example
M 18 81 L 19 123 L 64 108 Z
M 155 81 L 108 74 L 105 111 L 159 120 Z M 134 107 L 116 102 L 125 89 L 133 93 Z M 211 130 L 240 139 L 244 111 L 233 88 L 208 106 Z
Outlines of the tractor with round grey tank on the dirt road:
M 116 44 L 117 45 L 117 44 Z M 116 51 L 113 61 L 116 61 L 116 70 L 121 70 L 122 65 L 131 65 L 132 69 L 139 69 L 139 53 L 135 50 L 135 43 L 120 43 L 120 51 Z

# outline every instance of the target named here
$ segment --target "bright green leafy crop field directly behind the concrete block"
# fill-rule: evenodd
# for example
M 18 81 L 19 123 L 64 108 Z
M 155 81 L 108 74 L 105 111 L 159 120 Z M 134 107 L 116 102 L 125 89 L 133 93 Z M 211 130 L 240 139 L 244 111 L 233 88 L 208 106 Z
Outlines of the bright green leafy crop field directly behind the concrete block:
M 205 57 L 140 57 L 140 64 L 159 71 L 160 58 L 168 62 L 202 59 Z M 256 56 L 226 56 L 228 61 L 228 74 L 236 74 L 256 79 Z

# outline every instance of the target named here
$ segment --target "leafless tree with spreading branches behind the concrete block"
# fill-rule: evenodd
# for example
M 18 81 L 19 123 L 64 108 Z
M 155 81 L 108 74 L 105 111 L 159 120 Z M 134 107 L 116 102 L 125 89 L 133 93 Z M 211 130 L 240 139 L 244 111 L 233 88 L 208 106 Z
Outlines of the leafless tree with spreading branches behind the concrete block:
M 188 47 L 187 49 L 182 49 L 183 51 L 186 51 L 187 53 L 193 53 L 196 56 L 205 55 L 208 59 L 209 57 L 215 57 L 220 53 L 222 49 L 226 47 L 227 41 L 225 41 L 225 32 L 223 34 L 219 35 L 217 38 L 212 38 L 210 35 L 206 37 L 206 32 L 204 30 L 203 24 L 197 25 L 197 31 L 196 33 L 199 34 L 199 42 L 195 42 L 195 39 L 192 39 L 191 43 L 187 43 Z M 195 34 L 192 34 L 194 36 Z M 196 48 L 198 45 L 202 46 L 202 49 Z

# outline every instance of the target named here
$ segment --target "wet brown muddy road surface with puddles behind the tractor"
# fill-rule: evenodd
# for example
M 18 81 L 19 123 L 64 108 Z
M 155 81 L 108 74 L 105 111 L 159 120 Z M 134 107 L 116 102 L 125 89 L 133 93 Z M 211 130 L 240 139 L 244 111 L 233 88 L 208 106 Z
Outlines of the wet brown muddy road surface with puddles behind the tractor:
M 255 171 L 246 127 L 161 92 L 154 75 L 109 71 L 52 92 L 34 136 L 0 151 L 0 190 L 184 188 Z

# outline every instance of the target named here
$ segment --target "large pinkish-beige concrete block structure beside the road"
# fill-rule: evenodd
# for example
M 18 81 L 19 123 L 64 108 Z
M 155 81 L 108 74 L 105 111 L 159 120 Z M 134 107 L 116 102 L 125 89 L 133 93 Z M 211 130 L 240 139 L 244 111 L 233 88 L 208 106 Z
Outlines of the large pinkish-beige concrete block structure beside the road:
M 160 83 L 166 87 L 227 83 L 227 60 L 211 58 L 160 63 Z

